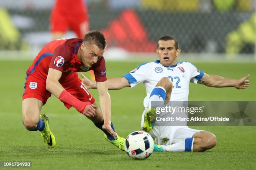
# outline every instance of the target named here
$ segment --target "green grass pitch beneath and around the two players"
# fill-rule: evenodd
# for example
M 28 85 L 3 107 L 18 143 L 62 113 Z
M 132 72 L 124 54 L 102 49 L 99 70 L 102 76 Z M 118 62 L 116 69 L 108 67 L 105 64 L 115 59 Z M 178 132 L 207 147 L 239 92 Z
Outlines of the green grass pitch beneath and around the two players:
M 47 149 L 39 132 L 29 132 L 22 124 L 21 95 L 26 69 L 32 61 L 0 61 L 0 161 L 31 161 L 32 168 L 46 169 L 255 169 L 256 126 L 192 127 L 208 130 L 218 144 L 203 153 L 153 153 L 143 161 L 128 158 L 125 152 L 107 143 L 103 133 L 73 108 L 50 97 L 42 113 L 49 116 L 56 148 Z M 119 77 L 140 62 L 107 61 L 108 77 Z M 255 63 L 193 63 L 209 74 L 240 78 L 248 73 L 251 85 L 246 90 L 190 85 L 189 100 L 256 100 Z M 88 74 L 86 74 L 88 75 Z M 90 90 L 98 101 L 97 90 Z M 116 132 L 126 137 L 140 130 L 143 85 L 110 91 L 112 121 Z

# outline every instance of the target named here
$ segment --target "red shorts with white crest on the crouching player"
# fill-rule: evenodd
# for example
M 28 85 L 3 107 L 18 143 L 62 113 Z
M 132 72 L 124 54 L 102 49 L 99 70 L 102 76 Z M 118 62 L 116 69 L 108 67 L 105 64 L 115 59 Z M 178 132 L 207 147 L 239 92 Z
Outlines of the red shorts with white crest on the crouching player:
M 78 100 L 83 102 L 91 102 L 92 104 L 95 102 L 92 94 L 87 90 L 87 88 L 83 85 L 82 81 L 79 79 L 77 73 L 69 76 L 68 78 L 62 79 L 61 81 L 62 87 L 64 87 L 67 92 L 72 94 Z M 43 82 L 38 82 L 36 79 L 29 78 L 25 83 L 25 91 L 23 94 L 23 100 L 26 98 L 36 98 L 41 100 L 43 104 L 46 103 L 47 99 L 51 96 L 51 93 L 46 90 L 46 84 Z M 69 109 L 71 105 L 64 103 L 64 105 Z

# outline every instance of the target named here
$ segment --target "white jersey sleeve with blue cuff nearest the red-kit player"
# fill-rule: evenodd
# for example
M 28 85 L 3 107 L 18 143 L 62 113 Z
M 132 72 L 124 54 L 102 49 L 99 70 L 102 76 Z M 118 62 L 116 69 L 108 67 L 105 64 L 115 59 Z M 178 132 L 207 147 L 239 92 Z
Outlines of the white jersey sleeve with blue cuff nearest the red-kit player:
M 142 64 L 144 65 L 144 64 Z M 146 67 L 139 65 L 131 72 L 123 75 L 122 77 L 125 77 L 128 82 L 130 83 L 131 87 L 135 87 L 136 85 L 140 84 L 141 82 L 146 80 Z M 142 67 L 141 67 L 142 66 Z

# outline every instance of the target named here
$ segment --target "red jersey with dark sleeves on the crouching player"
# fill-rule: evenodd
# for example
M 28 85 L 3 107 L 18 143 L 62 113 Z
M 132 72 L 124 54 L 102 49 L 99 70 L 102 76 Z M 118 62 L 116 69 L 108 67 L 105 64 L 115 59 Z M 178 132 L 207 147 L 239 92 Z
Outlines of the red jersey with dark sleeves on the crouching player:
M 26 80 L 37 79 L 46 82 L 49 68 L 59 70 L 62 73 L 60 82 L 69 77 L 73 72 L 86 72 L 93 70 L 95 80 L 103 82 L 107 80 L 105 59 L 101 57 L 92 67 L 87 68 L 77 58 L 77 51 L 82 44 L 82 39 L 53 40 L 46 44 L 38 53 L 32 65 L 27 70 Z M 77 73 L 75 73 L 77 74 Z

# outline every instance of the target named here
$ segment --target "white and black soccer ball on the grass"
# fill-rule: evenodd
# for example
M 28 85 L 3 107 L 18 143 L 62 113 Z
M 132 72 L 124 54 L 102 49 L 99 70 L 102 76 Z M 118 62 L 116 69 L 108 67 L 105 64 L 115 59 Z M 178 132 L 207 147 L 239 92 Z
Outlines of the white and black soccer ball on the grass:
M 135 131 L 125 140 L 125 152 L 133 159 L 143 160 L 154 151 L 154 140 L 146 132 Z

